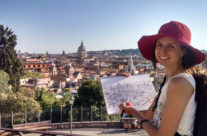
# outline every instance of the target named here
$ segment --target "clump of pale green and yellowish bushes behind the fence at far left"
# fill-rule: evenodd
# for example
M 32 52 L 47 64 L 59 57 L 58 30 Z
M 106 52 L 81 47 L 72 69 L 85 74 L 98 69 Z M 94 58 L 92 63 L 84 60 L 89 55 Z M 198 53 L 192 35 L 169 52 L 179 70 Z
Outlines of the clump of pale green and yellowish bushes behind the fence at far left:
M 9 75 L 0 70 L 0 112 L 24 112 L 40 110 L 40 104 L 35 101 L 35 92 L 31 89 L 20 89 L 12 92 L 8 85 Z

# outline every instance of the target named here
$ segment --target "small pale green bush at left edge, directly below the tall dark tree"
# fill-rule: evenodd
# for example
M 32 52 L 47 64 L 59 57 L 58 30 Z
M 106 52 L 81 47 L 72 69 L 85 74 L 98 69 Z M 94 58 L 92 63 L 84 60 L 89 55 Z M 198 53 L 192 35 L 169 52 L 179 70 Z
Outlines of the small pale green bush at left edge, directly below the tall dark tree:
M 11 90 L 9 89 L 9 85 L 8 85 L 8 81 L 9 81 L 9 75 L 0 70 L 0 94 L 1 93 L 10 93 Z

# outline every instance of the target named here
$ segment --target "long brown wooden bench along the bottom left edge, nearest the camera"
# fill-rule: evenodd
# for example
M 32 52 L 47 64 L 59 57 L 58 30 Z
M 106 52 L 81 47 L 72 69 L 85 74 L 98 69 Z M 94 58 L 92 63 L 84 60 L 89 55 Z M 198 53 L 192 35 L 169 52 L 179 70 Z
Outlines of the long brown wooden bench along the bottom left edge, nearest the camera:
M 24 136 L 23 133 L 38 133 L 44 136 L 83 136 L 77 134 L 67 134 L 67 133 L 60 133 L 60 132 L 47 132 L 47 131 L 37 131 L 37 130 L 25 130 L 25 129 L 12 129 L 12 128 L 0 128 L 4 132 L 0 133 L 0 136 L 8 136 L 8 135 L 19 135 Z

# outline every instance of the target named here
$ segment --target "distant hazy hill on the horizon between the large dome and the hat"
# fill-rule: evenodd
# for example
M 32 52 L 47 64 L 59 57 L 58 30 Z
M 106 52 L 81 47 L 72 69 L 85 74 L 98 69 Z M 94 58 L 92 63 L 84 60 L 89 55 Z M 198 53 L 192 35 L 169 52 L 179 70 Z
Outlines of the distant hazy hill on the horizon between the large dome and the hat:
M 138 49 L 123 49 L 123 50 L 102 50 L 102 51 L 88 51 L 87 53 L 90 55 L 95 54 L 104 54 L 104 53 L 112 53 L 114 55 L 118 56 L 124 56 L 124 55 L 141 55 Z

